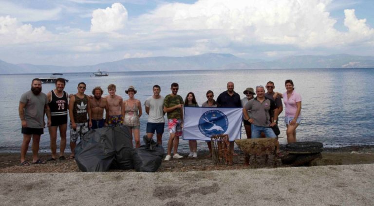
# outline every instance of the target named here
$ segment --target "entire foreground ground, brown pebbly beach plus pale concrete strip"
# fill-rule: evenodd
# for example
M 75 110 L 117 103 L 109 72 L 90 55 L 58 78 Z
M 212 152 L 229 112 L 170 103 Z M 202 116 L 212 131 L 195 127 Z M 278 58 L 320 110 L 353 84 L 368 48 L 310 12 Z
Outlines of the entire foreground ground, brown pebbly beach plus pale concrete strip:
M 241 153 L 232 166 L 216 166 L 206 154 L 147 173 L 79 172 L 74 160 L 21 167 L 19 154 L 3 153 L 0 206 L 374 205 L 372 146 L 326 149 L 313 167 L 274 168 L 274 158 L 244 166 Z

